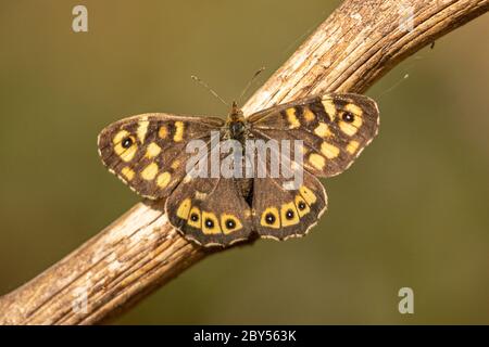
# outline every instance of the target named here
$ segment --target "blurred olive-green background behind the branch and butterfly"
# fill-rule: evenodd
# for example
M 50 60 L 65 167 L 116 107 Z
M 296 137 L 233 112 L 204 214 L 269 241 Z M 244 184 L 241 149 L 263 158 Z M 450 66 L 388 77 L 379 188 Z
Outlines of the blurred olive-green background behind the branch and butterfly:
M 230 100 L 338 3 L 2 1 L 0 293 L 139 201 L 99 160 L 105 125 L 224 116 L 191 74 Z M 86 34 L 72 31 L 76 4 Z M 488 30 L 475 20 L 368 91 L 380 133 L 325 182 L 329 210 L 308 237 L 209 257 L 114 323 L 489 323 Z M 414 314 L 398 311 L 403 286 Z

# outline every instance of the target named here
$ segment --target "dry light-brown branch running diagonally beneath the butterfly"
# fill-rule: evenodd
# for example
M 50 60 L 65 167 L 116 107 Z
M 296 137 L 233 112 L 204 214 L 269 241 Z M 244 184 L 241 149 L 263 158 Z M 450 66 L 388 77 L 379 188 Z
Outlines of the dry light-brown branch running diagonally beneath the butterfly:
M 243 111 L 250 114 L 322 91 L 363 92 L 404 57 L 488 9 L 488 0 L 347 0 Z M 170 227 L 161 203 L 139 203 L 64 259 L 1 297 L 0 323 L 101 322 L 208 254 Z

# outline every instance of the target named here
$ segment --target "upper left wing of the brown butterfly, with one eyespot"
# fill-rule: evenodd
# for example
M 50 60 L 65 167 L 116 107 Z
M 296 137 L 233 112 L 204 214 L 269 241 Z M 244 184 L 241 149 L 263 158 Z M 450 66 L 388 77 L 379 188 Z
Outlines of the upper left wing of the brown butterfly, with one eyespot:
M 166 197 L 186 175 L 186 152 L 190 140 L 210 141 L 211 131 L 224 120 L 142 114 L 115 121 L 98 139 L 99 154 L 109 170 L 138 194 Z

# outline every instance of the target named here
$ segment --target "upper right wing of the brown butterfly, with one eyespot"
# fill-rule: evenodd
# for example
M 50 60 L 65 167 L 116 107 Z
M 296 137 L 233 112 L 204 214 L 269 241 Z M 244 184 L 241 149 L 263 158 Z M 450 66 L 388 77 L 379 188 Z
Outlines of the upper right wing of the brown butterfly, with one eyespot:
M 258 138 L 302 140 L 304 168 L 318 177 L 344 171 L 378 131 L 369 98 L 327 93 L 264 110 L 249 118 Z

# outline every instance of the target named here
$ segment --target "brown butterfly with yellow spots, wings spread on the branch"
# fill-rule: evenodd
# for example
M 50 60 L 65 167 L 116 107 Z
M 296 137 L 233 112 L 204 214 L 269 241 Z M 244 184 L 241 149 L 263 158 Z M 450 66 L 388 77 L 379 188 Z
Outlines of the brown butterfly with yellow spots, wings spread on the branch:
M 354 93 L 324 93 L 275 105 L 244 117 L 236 103 L 218 117 L 154 113 L 115 121 L 98 138 L 103 164 L 131 190 L 165 200 L 170 223 L 202 246 L 229 246 L 252 237 L 302 236 L 327 207 L 318 178 L 336 176 L 353 163 L 378 132 L 379 112 L 372 99 Z M 192 141 L 212 156 L 212 133 L 222 139 L 301 141 L 298 187 L 286 178 L 199 177 L 191 175 Z M 217 154 L 222 156 L 222 154 Z M 269 159 L 253 159 L 271 166 Z M 265 163 L 258 163 L 265 160 Z M 209 167 L 209 163 L 206 164 Z M 193 172 L 196 174 L 196 172 Z

